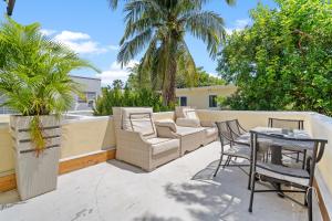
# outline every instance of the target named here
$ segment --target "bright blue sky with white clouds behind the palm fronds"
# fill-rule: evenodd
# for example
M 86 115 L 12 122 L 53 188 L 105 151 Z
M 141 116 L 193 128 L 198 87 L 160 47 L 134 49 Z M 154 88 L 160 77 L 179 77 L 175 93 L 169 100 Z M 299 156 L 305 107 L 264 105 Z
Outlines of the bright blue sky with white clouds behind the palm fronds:
M 220 14 L 225 20 L 225 29 L 231 33 L 251 24 L 249 11 L 259 1 L 271 8 L 276 7 L 273 0 L 237 0 L 234 7 L 227 6 L 224 0 L 211 0 L 205 9 Z M 6 12 L 3 1 L 0 1 L 0 12 Z M 127 67 L 137 63 L 144 52 L 131 61 L 127 67 L 121 69 L 116 63 L 118 42 L 124 31 L 123 18 L 123 4 L 113 11 L 107 0 L 17 0 L 12 15 L 12 19 L 22 24 L 39 22 L 43 34 L 91 61 L 101 73 L 82 69 L 72 74 L 100 77 L 103 85 L 111 84 L 116 78 L 125 82 Z M 0 17 L 0 21 L 4 21 L 4 15 Z M 217 75 L 217 61 L 209 57 L 206 45 L 189 34 L 186 35 L 186 41 L 196 65 Z

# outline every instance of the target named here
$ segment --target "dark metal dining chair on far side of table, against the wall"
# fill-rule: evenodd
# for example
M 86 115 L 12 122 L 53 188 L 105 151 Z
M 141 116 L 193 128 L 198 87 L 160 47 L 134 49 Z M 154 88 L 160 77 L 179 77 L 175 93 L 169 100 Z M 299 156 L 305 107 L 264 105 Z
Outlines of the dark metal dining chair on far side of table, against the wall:
M 282 128 L 282 129 L 304 129 L 304 120 L 302 119 L 280 119 L 280 118 L 269 118 L 269 123 L 268 123 L 269 127 L 276 127 L 276 128 Z M 289 156 L 289 155 L 297 155 L 297 162 L 300 161 L 300 154 L 303 155 L 303 159 L 302 161 L 302 168 L 304 168 L 305 166 L 305 158 L 307 158 L 307 151 L 299 151 L 297 149 L 293 149 L 291 147 L 284 147 L 284 155 Z

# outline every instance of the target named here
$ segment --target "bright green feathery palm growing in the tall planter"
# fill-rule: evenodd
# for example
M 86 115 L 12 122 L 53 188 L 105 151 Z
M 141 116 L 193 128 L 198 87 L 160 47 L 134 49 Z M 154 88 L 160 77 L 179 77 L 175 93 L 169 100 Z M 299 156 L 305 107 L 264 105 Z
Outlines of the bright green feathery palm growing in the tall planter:
M 0 95 L 2 106 L 33 116 L 31 136 L 37 149 L 45 145 L 41 115 L 60 115 L 73 102 L 79 85 L 69 73 L 75 69 L 93 67 L 68 48 L 48 39 L 40 24 L 21 25 L 8 18 L 0 27 Z

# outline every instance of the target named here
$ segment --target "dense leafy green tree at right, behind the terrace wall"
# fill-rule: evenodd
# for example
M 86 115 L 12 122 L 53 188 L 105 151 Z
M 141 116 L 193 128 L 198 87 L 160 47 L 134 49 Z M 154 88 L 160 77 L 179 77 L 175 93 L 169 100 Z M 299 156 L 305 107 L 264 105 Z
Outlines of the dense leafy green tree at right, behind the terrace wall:
M 332 115 L 332 4 L 276 0 L 259 4 L 252 27 L 234 32 L 218 72 L 239 90 L 236 109 L 297 109 Z

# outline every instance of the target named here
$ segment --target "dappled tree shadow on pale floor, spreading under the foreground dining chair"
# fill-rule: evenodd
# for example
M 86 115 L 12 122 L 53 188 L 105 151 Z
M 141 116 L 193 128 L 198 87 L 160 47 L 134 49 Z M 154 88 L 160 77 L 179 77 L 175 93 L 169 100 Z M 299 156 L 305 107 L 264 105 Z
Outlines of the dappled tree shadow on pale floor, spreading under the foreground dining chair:
M 284 219 L 283 215 L 292 212 L 289 209 L 292 206 L 287 203 L 286 199 L 268 193 L 256 196 L 257 210 L 250 214 L 248 176 L 238 167 L 226 167 L 220 168 L 214 178 L 218 161 L 210 162 L 188 182 L 178 185 L 169 182 L 165 187 L 169 198 L 188 206 L 187 211 L 193 220 L 264 220 L 268 219 L 266 209 L 274 217 L 280 215 L 278 211 L 282 211 L 281 218 Z M 266 209 L 261 209 L 264 207 Z M 286 212 L 287 210 L 289 211 Z

